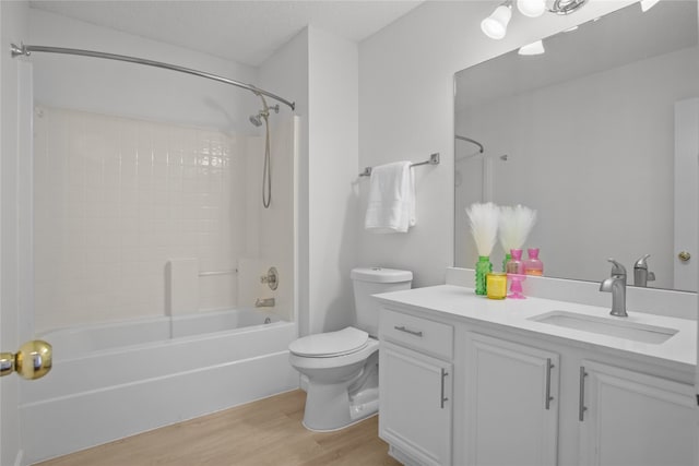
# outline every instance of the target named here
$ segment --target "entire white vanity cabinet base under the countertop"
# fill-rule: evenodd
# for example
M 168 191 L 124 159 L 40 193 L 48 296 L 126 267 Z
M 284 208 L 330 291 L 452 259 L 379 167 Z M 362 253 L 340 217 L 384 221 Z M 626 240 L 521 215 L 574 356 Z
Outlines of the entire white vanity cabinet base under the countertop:
M 379 434 L 403 464 L 695 464 L 694 371 L 423 307 L 380 312 Z

